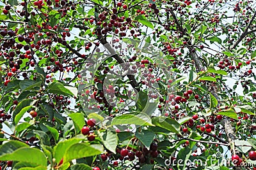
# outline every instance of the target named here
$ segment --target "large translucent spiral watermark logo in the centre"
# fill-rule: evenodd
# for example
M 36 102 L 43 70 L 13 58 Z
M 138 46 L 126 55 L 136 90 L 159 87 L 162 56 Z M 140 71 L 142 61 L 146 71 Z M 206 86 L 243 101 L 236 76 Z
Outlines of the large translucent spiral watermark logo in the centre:
M 97 48 L 86 59 L 81 72 L 79 99 L 84 112 L 111 131 L 127 131 L 132 128 L 127 124 L 138 127 L 143 121 L 150 123 L 160 104 L 163 107 L 157 114 L 166 116 L 172 112 L 175 102 L 174 75 L 169 61 L 156 46 L 134 39 L 115 40 Z M 141 92 L 136 85 L 141 87 Z M 134 107 L 140 110 L 134 114 L 136 118 L 123 117 L 124 125 L 113 122 L 113 115 L 131 113 Z

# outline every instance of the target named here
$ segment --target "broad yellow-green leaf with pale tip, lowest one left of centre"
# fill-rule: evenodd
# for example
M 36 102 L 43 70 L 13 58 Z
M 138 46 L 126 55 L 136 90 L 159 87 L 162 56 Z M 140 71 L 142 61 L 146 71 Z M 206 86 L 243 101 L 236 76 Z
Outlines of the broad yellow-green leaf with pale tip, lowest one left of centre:
M 73 159 L 81 159 L 83 157 L 92 157 L 104 152 L 102 145 L 89 145 L 88 143 L 76 143 L 70 146 L 63 157 L 63 164 Z

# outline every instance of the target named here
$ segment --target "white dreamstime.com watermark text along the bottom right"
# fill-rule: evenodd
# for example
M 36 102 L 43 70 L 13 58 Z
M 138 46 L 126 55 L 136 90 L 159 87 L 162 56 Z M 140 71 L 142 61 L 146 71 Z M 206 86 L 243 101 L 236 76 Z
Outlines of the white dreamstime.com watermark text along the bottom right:
M 237 164 L 238 163 L 238 164 Z M 241 167 L 252 167 L 254 164 L 252 162 L 238 162 L 237 160 L 225 159 L 221 152 L 217 152 L 214 156 L 207 160 L 193 159 L 193 160 L 183 160 L 183 159 L 166 159 L 164 161 L 166 166 L 241 166 Z

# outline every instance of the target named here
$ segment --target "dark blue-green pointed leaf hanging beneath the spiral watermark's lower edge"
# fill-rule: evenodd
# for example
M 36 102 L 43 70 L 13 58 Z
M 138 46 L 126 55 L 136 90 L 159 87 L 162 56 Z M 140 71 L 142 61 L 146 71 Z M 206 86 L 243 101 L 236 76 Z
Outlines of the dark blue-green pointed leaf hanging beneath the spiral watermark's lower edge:
M 141 143 L 143 143 L 143 145 L 146 146 L 146 148 L 149 150 L 150 148 L 150 144 L 152 143 L 154 137 L 155 137 L 155 133 L 154 132 L 150 132 L 150 131 L 136 131 L 135 134 L 136 138 L 138 138 Z

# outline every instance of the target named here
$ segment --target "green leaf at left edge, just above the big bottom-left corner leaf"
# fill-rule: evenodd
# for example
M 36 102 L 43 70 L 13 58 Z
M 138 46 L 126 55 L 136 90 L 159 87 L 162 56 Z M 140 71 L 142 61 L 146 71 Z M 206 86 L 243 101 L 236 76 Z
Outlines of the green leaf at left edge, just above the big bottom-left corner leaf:
M 4 143 L 3 145 L 0 146 L 0 156 L 8 153 L 13 153 L 15 150 L 24 147 L 29 148 L 29 146 L 26 143 L 23 143 L 21 141 L 10 140 L 7 143 Z

